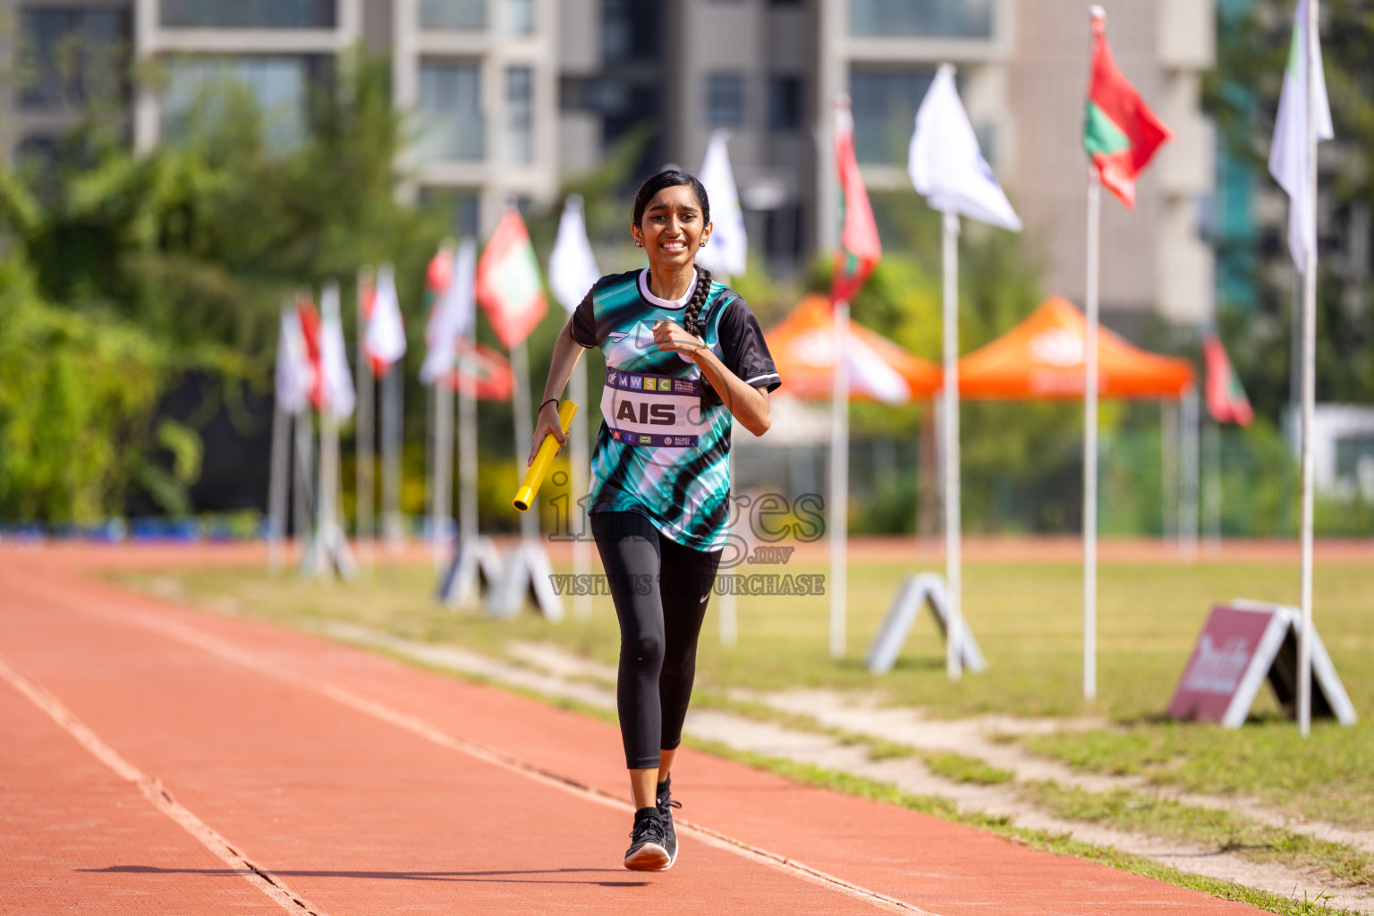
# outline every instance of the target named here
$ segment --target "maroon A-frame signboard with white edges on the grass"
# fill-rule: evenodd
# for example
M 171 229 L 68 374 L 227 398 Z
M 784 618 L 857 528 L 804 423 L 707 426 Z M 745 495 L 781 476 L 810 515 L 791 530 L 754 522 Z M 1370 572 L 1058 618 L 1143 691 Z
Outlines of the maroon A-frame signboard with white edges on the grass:
M 1290 607 L 1242 600 L 1213 607 L 1173 691 L 1169 715 L 1239 728 L 1265 680 L 1292 714 L 1300 626 L 1301 617 Z M 1355 709 L 1315 632 L 1312 688 L 1314 715 L 1355 721 Z

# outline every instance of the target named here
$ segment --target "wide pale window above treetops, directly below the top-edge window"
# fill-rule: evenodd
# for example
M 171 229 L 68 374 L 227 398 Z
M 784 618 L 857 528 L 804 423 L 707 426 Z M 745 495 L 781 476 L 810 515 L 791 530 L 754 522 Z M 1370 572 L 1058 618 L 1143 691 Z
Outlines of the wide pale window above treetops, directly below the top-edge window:
M 173 58 L 164 63 L 162 139 L 184 141 L 198 130 L 238 117 L 246 93 L 262 124 L 271 150 L 290 150 L 305 139 L 305 113 L 312 70 L 323 60 L 309 56 Z

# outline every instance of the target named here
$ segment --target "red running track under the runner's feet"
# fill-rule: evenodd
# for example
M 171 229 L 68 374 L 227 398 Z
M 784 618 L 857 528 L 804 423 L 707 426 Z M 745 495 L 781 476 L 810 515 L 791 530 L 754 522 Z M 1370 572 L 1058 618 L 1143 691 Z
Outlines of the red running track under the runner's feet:
M 0 551 L 4 913 L 1256 913 L 684 748 L 620 867 L 616 728 Z

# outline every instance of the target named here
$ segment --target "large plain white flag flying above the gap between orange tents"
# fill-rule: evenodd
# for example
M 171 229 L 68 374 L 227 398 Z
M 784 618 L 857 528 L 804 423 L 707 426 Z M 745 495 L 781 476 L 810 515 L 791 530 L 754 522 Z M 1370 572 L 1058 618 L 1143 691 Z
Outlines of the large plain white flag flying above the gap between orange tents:
M 1021 231 L 1007 195 L 978 150 L 978 137 L 959 102 L 954 67 L 943 65 L 916 111 L 907 157 L 911 184 L 936 210 L 952 210 L 980 222 Z

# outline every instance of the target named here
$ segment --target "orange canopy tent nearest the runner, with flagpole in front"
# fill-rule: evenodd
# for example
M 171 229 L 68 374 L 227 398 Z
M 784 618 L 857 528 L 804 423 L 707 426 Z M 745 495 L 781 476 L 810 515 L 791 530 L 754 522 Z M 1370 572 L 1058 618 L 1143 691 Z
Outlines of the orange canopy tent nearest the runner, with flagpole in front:
M 804 298 L 764 334 L 783 387 L 802 400 L 829 400 L 835 369 L 834 313 L 820 294 Z M 940 390 L 940 367 L 861 324 L 849 323 L 849 400 L 905 404 Z

